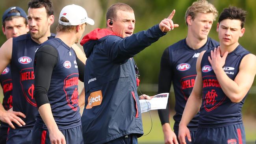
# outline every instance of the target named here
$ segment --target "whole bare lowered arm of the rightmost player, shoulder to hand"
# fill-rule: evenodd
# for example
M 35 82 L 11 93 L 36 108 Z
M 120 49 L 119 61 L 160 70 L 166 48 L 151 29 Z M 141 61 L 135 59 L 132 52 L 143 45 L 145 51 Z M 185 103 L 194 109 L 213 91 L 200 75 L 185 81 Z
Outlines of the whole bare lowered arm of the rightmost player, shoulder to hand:
M 182 114 L 182 118 L 179 124 L 179 141 L 180 144 L 186 144 L 185 137 L 189 141 L 191 141 L 191 136 L 189 133 L 189 129 L 187 125 L 189 124 L 190 120 L 198 113 L 201 105 L 202 105 L 202 73 L 201 73 L 201 61 L 204 52 L 201 52 L 199 57 L 197 58 L 197 77 L 195 79 L 195 85 L 193 90 L 187 99 L 187 103 Z

